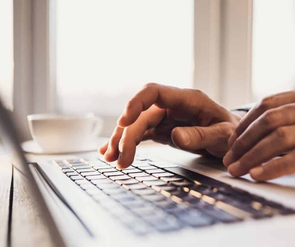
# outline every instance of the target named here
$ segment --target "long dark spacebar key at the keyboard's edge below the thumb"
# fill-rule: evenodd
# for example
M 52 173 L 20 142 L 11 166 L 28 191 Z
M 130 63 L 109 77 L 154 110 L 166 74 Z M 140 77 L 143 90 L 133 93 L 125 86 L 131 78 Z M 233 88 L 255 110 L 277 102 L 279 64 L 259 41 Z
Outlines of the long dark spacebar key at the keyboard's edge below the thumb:
M 204 176 L 200 173 L 190 171 L 188 169 L 182 168 L 182 167 L 170 167 L 170 168 L 163 168 L 166 171 L 175 173 L 177 175 L 183 176 L 187 179 L 197 181 L 201 184 L 209 185 L 209 186 L 229 186 L 228 184 L 225 184 L 221 181 L 218 181 L 216 179 L 213 179 L 211 177 Z

